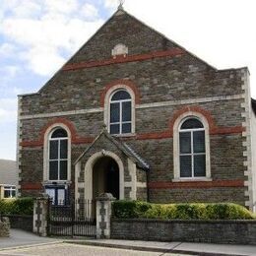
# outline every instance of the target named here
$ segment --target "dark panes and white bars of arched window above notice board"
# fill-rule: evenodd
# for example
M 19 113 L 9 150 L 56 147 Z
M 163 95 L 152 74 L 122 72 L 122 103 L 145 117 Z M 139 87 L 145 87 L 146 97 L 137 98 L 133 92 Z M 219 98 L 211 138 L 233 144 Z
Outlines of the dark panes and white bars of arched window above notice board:
M 49 180 L 68 179 L 68 134 L 57 128 L 49 136 Z

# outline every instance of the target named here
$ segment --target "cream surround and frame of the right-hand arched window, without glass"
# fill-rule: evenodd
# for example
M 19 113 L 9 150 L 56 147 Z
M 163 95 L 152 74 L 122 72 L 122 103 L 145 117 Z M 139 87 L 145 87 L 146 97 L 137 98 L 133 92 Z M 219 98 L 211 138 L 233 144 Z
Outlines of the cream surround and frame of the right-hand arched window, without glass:
M 188 131 L 180 130 L 183 122 L 190 118 L 198 119 L 204 126 L 204 128 L 198 129 L 190 129 L 193 131 L 196 130 L 204 130 L 205 131 L 205 156 L 206 156 L 206 176 L 203 177 L 195 177 L 194 174 L 191 177 L 180 177 L 180 152 L 179 152 L 179 132 L 180 131 Z M 192 143 L 192 142 L 191 142 Z M 194 168 L 194 166 L 193 166 Z M 210 135 L 209 135 L 209 124 L 204 115 L 194 111 L 188 111 L 186 113 L 181 114 L 174 122 L 173 125 L 173 176 L 172 181 L 212 181 L 211 178 L 211 162 L 210 162 Z

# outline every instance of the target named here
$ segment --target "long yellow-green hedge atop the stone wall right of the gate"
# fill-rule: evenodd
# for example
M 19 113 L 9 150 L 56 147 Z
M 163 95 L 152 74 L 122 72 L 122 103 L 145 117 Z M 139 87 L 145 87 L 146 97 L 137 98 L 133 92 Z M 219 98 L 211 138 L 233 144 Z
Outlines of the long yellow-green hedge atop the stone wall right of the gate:
M 161 220 L 254 220 L 256 216 L 244 207 L 222 204 L 150 204 L 140 201 L 116 201 L 112 216 L 118 219 Z

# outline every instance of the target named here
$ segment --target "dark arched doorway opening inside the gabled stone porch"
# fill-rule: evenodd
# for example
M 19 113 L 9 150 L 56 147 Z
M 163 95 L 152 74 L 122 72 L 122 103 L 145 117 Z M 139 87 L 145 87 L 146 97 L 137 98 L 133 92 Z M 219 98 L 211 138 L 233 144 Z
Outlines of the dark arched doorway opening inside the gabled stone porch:
M 119 168 L 115 160 L 102 157 L 93 167 L 93 198 L 102 193 L 111 193 L 117 200 L 120 197 Z

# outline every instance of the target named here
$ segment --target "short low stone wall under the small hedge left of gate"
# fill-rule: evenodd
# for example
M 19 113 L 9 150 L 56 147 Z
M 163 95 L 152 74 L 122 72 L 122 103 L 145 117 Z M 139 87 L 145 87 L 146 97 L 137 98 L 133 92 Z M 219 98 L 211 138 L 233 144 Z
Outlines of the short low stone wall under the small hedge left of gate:
M 32 232 L 32 216 L 11 215 L 9 218 L 11 228 L 19 228 Z

